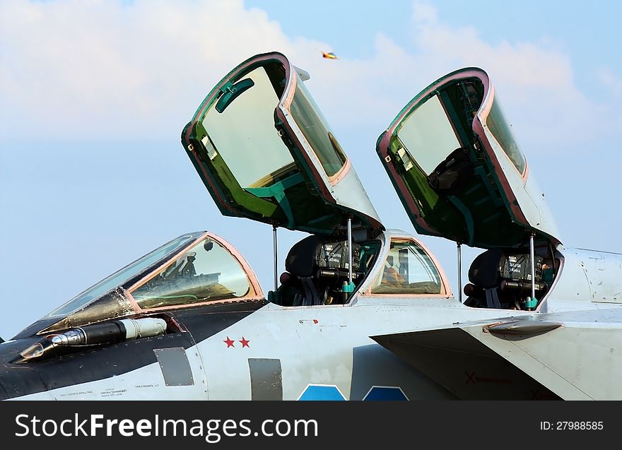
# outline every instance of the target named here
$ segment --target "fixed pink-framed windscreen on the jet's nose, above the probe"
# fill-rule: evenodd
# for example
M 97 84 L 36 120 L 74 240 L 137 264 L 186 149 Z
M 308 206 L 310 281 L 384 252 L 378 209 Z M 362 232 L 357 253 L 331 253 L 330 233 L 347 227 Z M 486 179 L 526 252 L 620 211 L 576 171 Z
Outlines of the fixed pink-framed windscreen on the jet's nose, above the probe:
M 36 332 L 262 297 L 252 269 L 228 242 L 194 232 L 150 251 L 54 309 L 40 319 Z

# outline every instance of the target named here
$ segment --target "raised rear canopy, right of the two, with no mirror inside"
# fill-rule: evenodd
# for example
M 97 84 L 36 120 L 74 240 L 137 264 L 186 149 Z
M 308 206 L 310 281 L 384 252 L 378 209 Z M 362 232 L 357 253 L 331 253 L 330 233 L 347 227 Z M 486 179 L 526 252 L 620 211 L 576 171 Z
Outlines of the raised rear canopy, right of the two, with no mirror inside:
M 406 212 L 423 235 L 471 247 L 517 247 L 556 225 L 485 71 L 461 69 L 409 102 L 377 141 Z

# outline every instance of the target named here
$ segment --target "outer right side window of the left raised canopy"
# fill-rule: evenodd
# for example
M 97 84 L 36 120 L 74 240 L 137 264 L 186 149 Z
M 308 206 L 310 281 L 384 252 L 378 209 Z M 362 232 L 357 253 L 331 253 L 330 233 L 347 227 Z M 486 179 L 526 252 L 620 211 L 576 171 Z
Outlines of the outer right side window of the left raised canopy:
M 307 90 L 303 80 L 296 74 L 296 92 L 291 102 L 294 121 L 303 131 L 324 171 L 329 177 L 339 172 L 346 163 L 346 154 L 332 134 L 328 122 Z

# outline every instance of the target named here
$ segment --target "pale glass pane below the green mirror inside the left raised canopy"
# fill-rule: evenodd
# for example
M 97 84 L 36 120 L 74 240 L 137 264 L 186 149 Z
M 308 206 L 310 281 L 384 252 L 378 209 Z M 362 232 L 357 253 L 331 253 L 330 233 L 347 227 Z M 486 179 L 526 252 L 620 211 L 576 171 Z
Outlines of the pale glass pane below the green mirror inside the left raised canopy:
M 220 153 L 242 188 L 269 186 L 278 174 L 293 169 L 291 153 L 274 127 L 279 98 L 263 66 L 238 83 L 250 87 L 224 109 L 213 105 L 205 115 L 202 123 L 208 136 L 204 144 Z

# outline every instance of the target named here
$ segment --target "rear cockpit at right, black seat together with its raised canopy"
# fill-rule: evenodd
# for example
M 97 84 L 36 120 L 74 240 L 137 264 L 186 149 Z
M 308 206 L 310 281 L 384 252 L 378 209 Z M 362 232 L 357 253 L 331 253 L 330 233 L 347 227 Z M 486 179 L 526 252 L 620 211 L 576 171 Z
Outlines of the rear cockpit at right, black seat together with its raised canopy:
M 419 233 L 450 239 L 459 252 L 485 249 L 469 268 L 467 306 L 541 304 L 561 267 L 558 232 L 485 71 L 430 84 L 376 150 Z

